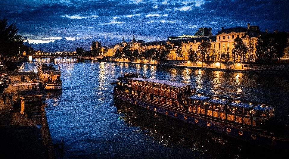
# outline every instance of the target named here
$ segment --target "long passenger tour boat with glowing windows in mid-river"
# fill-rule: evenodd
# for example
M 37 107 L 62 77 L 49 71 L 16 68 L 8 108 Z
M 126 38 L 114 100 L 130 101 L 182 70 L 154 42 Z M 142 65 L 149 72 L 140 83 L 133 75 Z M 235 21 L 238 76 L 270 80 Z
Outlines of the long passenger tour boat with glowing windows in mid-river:
M 289 127 L 276 107 L 197 93 L 174 81 L 118 77 L 113 96 L 122 101 L 268 148 L 289 148 Z

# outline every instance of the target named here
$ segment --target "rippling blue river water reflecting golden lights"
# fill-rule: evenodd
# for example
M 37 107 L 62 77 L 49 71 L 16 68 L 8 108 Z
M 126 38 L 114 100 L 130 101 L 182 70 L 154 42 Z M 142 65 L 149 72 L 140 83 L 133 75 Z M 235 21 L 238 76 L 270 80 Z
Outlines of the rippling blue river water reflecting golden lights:
M 56 63 L 63 90 L 47 94 L 53 143 L 64 139 L 64 158 L 277 158 L 269 150 L 162 114 L 114 100 L 110 85 L 124 72 L 188 83 L 197 92 L 278 106 L 289 121 L 289 79 L 113 62 Z M 288 154 L 286 154 L 288 155 Z

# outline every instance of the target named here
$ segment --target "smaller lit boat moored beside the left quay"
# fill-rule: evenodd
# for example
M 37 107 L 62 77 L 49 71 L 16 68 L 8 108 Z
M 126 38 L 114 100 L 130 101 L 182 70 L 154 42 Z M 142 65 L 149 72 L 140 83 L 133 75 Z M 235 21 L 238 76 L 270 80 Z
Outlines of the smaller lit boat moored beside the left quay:
M 38 73 L 39 80 L 42 81 L 43 87 L 47 91 L 62 90 L 61 71 L 55 69 L 53 65 L 39 64 Z

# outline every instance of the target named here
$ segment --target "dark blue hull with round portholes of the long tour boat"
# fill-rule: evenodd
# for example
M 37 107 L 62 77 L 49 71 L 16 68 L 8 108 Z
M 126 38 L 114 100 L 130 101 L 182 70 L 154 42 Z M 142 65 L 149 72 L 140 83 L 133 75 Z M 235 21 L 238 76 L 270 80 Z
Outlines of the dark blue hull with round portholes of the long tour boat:
M 204 127 L 228 136 L 232 136 L 247 142 L 252 142 L 261 146 L 269 146 L 272 148 L 289 148 L 288 139 L 280 139 L 270 136 L 269 132 L 264 134 L 263 132 L 256 132 L 250 129 L 243 129 L 234 125 L 229 125 L 225 123 L 219 123 L 209 119 L 194 116 L 193 114 L 188 114 L 186 112 L 173 110 L 170 108 L 162 107 L 160 105 L 154 104 L 151 101 L 142 100 L 138 98 L 133 98 L 129 93 L 121 91 L 118 88 L 113 89 L 113 96 L 135 104 L 137 106 L 149 109 L 151 111 L 167 115 L 191 124 Z

